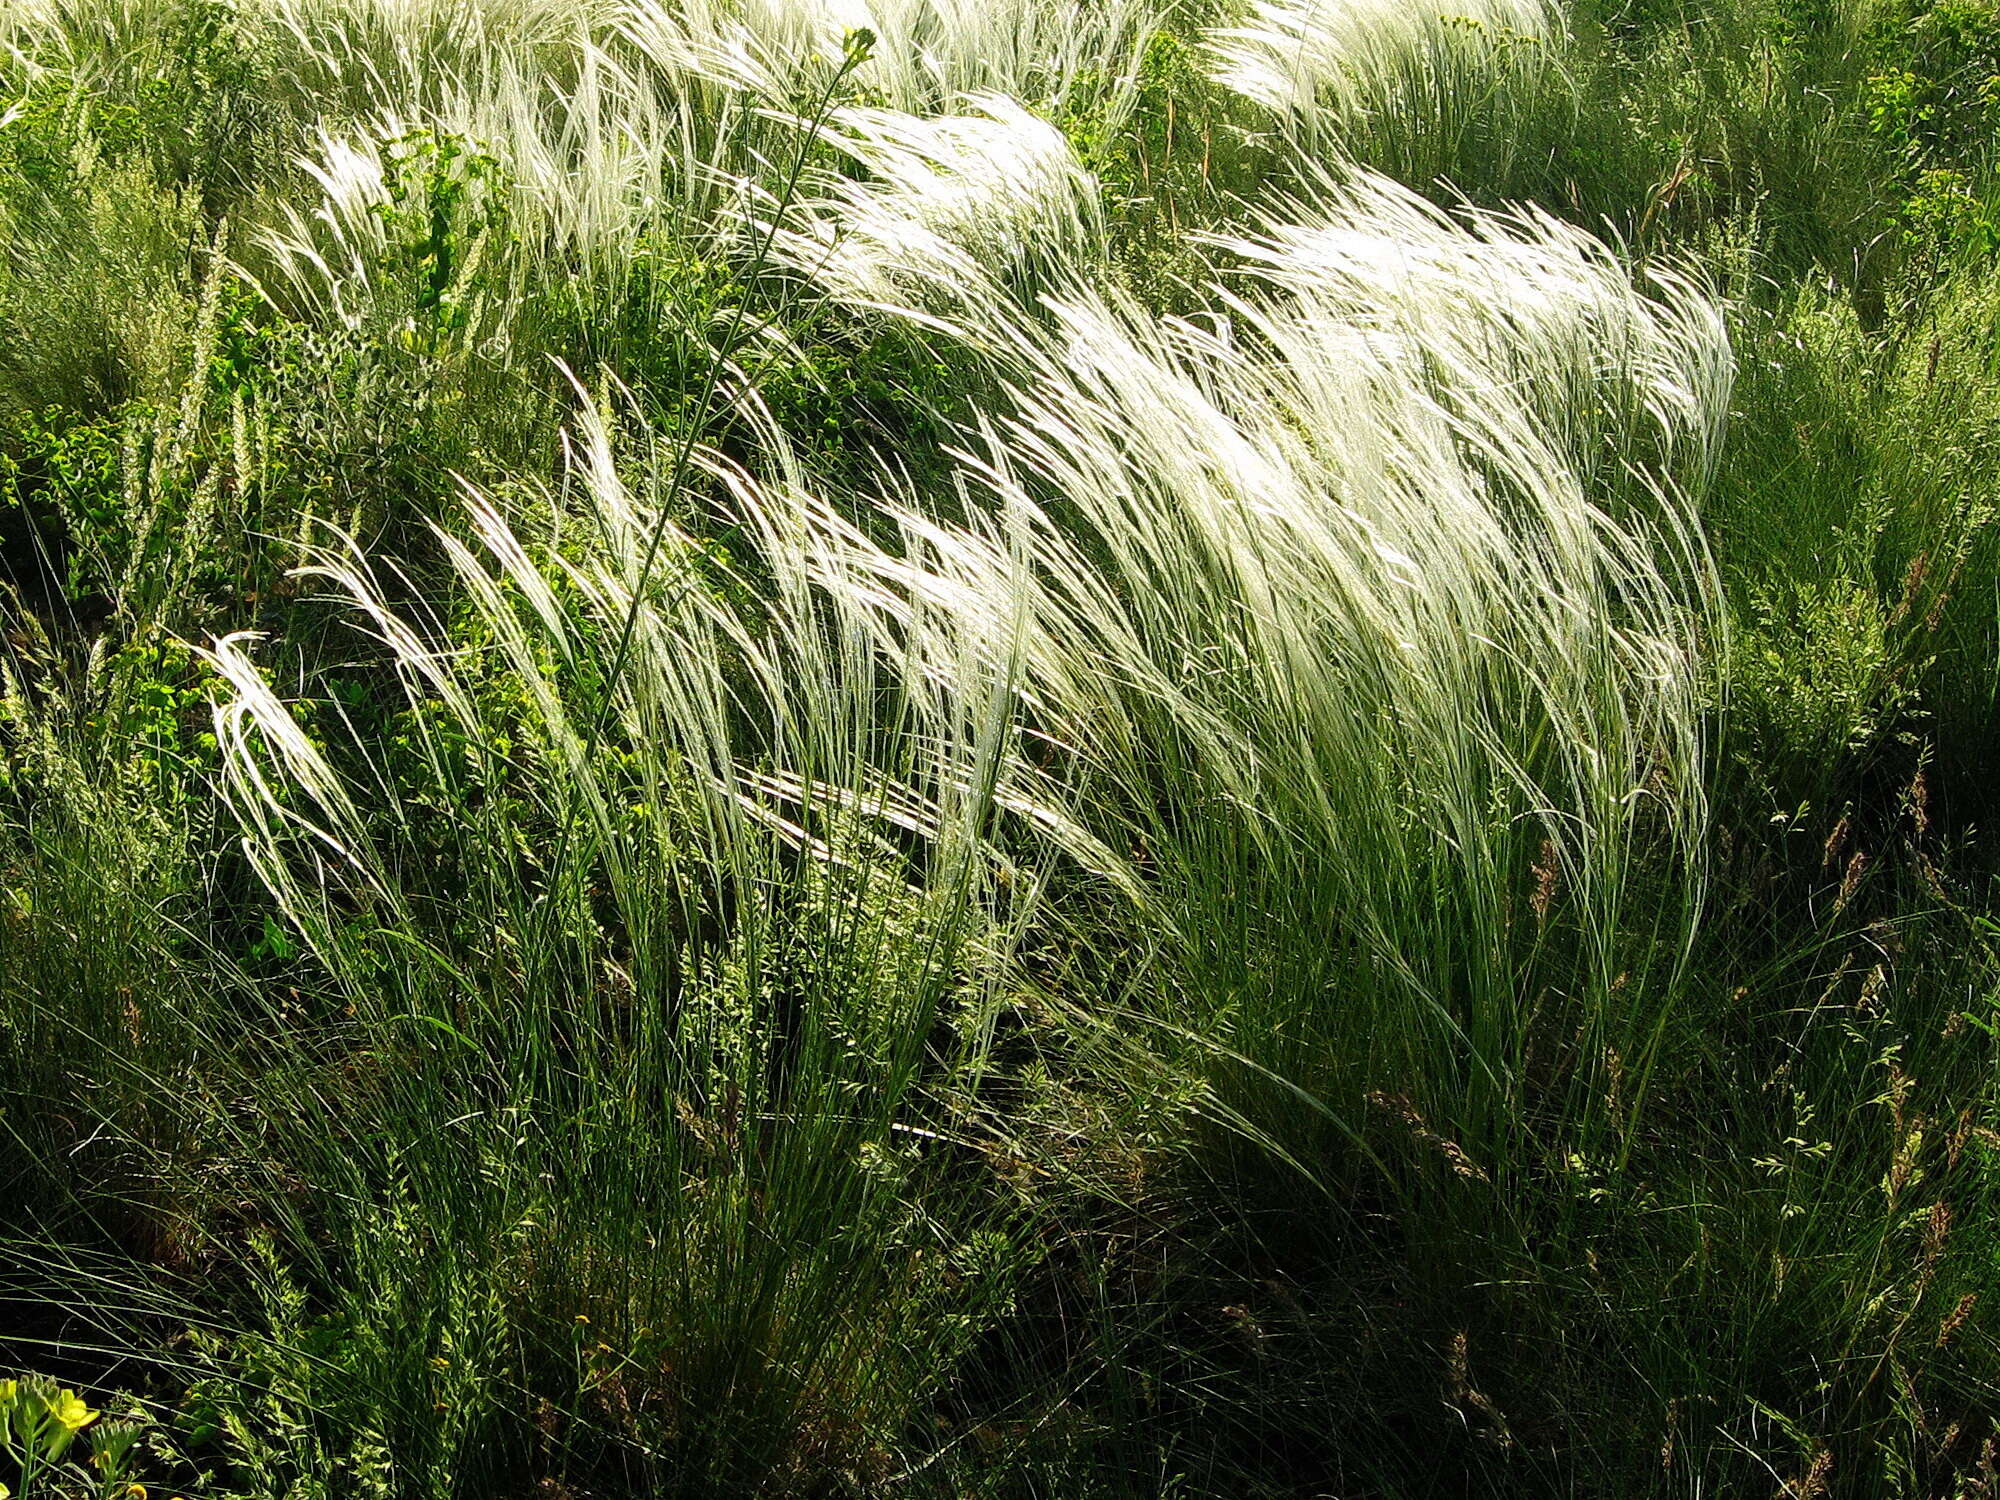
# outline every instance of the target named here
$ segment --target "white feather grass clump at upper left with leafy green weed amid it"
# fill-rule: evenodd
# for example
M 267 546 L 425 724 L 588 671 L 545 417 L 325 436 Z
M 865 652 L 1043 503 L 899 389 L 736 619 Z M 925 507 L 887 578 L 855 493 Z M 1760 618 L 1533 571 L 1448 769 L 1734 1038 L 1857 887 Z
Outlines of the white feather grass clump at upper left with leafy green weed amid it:
M 698 364 L 714 324 L 734 326 L 722 302 L 768 270 L 768 220 L 866 48 L 768 100 L 658 38 L 606 36 L 578 30 L 554 58 L 474 52 L 422 96 L 382 90 L 362 120 L 322 122 L 298 162 L 318 204 L 280 200 L 244 274 L 286 312 L 414 338 L 480 374 L 644 358 L 634 332 Z M 776 336 L 770 322 L 746 336 Z

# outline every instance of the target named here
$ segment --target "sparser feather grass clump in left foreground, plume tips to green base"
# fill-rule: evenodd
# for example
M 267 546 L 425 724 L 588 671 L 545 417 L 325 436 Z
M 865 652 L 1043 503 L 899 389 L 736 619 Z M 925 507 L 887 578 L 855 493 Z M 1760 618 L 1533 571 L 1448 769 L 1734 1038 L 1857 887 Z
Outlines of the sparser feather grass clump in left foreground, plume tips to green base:
M 260 876 L 368 1048 L 450 1038 L 420 1082 L 370 1080 L 372 1128 L 514 1120 L 532 1144 L 492 1170 L 542 1204 L 506 1252 L 514 1316 L 588 1314 L 654 1414 L 618 1436 L 688 1484 L 894 1442 L 1016 1260 L 994 1188 L 940 1174 L 984 1132 L 944 1102 L 978 1062 L 954 1022 L 1014 924 L 988 840 L 1012 614 L 898 656 L 816 566 L 848 544 L 828 506 L 704 464 L 754 590 L 590 412 L 562 530 L 554 500 L 474 498 L 468 538 L 438 532 L 456 626 L 330 540 L 310 574 L 396 664 L 398 762 L 316 744 L 242 638 L 210 652 Z

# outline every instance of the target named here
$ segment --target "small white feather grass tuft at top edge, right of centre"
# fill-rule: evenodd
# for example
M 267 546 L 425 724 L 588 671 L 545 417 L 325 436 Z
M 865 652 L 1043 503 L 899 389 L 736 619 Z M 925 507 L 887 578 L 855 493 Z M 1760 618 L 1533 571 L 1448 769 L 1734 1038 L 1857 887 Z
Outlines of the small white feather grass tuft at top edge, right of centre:
M 1308 156 L 1424 184 L 1506 158 L 1560 78 L 1562 20 L 1546 0 L 1252 0 L 1206 40 L 1216 82 Z

